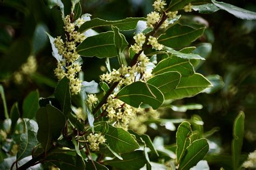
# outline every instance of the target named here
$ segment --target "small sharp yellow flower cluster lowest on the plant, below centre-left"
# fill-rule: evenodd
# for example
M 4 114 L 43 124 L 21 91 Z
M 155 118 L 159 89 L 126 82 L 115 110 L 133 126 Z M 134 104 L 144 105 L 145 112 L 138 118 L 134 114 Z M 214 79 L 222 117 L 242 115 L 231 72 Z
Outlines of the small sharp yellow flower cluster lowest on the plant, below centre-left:
M 98 151 L 99 150 L 99 144 L 103 144 L 106 142 L 106 139 L 102 133 L 90 133 L 87 136 L 87 140 L 89 143 L 89 147 L 92 151 Z

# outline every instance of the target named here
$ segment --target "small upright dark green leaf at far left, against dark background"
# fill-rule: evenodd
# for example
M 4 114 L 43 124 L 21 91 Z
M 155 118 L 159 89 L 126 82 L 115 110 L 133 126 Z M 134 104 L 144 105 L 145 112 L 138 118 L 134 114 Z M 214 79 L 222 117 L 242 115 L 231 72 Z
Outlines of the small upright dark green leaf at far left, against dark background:
M 39 93 L 38 90 L 31 91 L 23 101 L 22 110 L 23 118 L 33 119 L 36 116 L 36 111 L 39 108 Z

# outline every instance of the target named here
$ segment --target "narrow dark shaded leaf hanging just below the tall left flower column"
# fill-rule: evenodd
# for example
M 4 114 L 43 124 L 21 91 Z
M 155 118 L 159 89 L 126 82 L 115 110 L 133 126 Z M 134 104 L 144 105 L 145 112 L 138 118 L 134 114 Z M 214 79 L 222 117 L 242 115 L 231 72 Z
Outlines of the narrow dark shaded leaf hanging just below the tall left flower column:
M 63 114 L 66 116 L 71 112 L 71 94 L 69 89 L 69 79 L 64 77 L 59 81 L 54 95 L 60 103 Z

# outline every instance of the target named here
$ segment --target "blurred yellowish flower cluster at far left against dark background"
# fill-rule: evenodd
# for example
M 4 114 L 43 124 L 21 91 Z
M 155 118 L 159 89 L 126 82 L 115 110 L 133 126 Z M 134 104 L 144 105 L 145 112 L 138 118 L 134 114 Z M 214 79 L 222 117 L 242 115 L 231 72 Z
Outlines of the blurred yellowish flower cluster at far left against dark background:
M 30 75 L 35 73 L 37 70 L 37 61 L 35 56 L 30 55 L 26 61 L 21 66 L 21 69 L 18 72 L 14 73 L 14 81 L 17 84 L 21 84 L 24 75 Z

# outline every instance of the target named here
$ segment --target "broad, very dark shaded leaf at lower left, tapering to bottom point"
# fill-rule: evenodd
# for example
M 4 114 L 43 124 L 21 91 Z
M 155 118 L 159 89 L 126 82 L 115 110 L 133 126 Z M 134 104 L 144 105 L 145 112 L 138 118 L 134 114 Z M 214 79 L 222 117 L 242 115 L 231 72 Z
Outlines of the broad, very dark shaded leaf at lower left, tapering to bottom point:
M 37 140 L 42 144 L 45 153 L 49 150 L 52 140 L 57 140 L 62 132 L 66 118 L 63 113 L 47 104 L 46 107 L 39 108 L 36 114 L 38 123 Z

